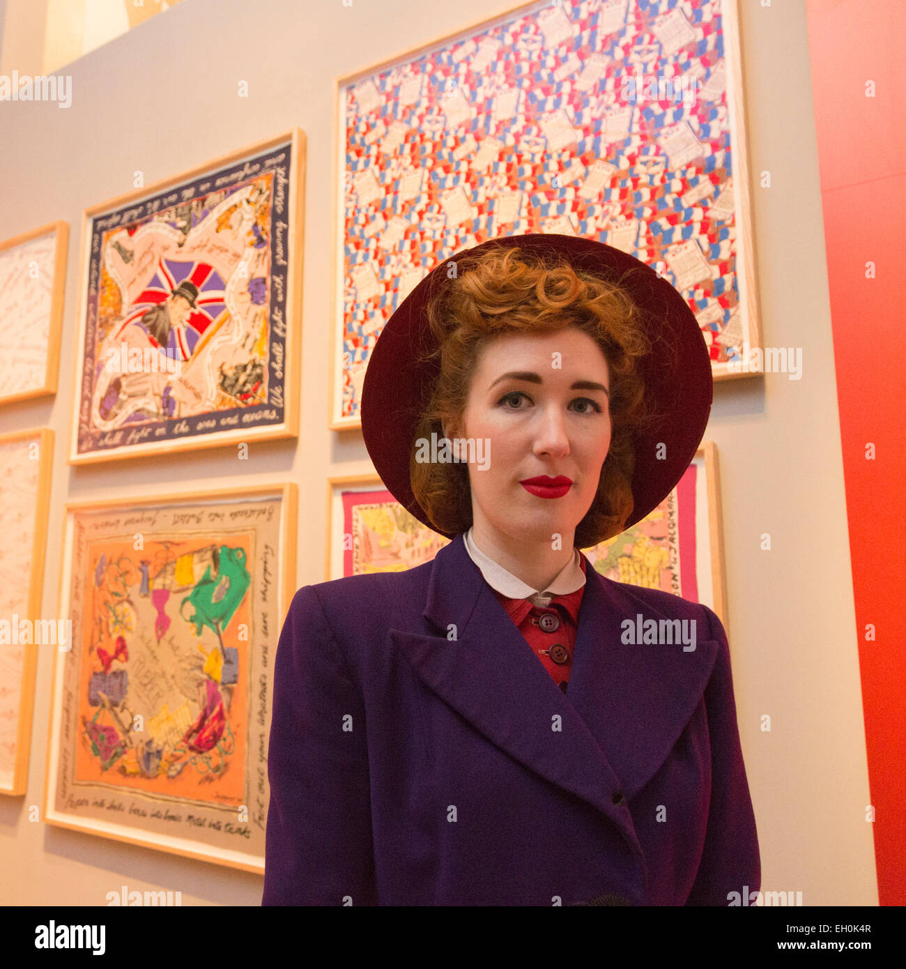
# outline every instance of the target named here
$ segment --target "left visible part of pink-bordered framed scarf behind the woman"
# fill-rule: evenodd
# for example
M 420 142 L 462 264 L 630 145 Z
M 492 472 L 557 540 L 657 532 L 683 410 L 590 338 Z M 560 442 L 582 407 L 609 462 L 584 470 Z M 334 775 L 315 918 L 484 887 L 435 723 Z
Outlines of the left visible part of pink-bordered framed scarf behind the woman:
M 403 572 L 450 543 L 411 516 L 374 474 L 328 479 L 325 580 Z

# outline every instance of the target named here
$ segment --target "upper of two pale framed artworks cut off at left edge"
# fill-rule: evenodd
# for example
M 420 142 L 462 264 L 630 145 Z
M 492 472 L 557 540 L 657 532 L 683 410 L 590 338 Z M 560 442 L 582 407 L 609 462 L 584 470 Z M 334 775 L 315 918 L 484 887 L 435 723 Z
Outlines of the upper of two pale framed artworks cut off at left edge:
M 0 404 L 56 393 L 69 226 L 0 242 Z

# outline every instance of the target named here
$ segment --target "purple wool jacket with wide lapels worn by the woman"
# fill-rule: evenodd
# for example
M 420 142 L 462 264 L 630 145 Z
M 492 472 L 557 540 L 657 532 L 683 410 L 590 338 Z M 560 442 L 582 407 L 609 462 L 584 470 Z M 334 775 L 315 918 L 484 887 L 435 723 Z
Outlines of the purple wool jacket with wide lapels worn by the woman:
M 720 620 L 585 566 L 566 694 L 461 535 L 407 572 L 297 591 L 262 904 L 727 905 L 761 888 Z M 639 615 L 696 620 L 695 649 L 624 643 Z

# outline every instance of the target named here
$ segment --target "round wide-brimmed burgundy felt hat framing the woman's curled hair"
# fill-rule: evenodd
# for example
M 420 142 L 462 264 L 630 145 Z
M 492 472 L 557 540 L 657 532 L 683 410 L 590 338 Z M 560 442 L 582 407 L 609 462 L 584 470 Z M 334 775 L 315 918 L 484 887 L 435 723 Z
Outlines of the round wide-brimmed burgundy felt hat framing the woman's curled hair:
M 660 418 L 634 439 L 635 506 L 624 525 L 628 528 L 670 494 L 695 456 L 711 410 L 711 362 L 695 314 L 671 284 L 635 257 L 593 239 L 547 233 L 505 235 L 456 253 L 422 279 L 388 320 L 365 371 L 361 431 L 374 467 L 403 508 L 440 532 L 416 501 L 409 479 L 416 423 L 439 374 L 436 364 L 419 361 L 433 342 L 423 310 L 428 297 L 447 284 L 450 263 L 492 246 L 519 246 L 542 258 L 565 259 L 577 270 L 620 283 L 640 306 L 641 326 L 652 349 L 638 366 L 645 399 Z M 663 459 L 658 458 L 660 444 L 665 445 Z

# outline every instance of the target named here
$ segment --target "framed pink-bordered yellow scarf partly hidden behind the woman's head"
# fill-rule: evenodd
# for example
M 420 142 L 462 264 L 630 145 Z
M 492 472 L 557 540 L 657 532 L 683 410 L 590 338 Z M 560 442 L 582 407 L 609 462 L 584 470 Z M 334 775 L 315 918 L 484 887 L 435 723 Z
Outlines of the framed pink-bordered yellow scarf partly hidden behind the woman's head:
M 362 496 L 363 508 L 357 495 Z M 365 516 L 372 520 L 364 520 Z M 328 479 L 327 522 L 326 581 L 414 568 L 449 542 L 409 515 L 374 472 Z M 642 521 L 582 550 L 607 578 L 652 585 L 703 603 L 726 625 L 723 521 L 714 442 L 702 442 L 679 485 Z

